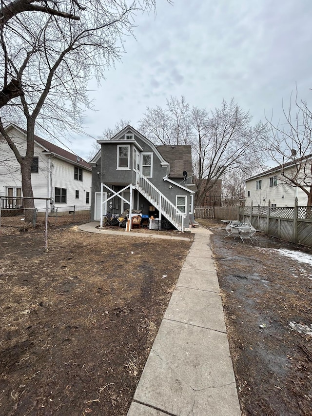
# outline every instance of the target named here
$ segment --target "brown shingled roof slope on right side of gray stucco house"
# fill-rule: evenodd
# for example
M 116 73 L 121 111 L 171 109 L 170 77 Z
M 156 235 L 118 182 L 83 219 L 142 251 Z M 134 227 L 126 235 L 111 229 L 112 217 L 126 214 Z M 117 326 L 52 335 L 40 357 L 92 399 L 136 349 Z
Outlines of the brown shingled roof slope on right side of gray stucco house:
M 157 146 L 157 150 L 169 162 L 171 178 L 183 178 L 183 171 L 193 175 L 191 146 Z

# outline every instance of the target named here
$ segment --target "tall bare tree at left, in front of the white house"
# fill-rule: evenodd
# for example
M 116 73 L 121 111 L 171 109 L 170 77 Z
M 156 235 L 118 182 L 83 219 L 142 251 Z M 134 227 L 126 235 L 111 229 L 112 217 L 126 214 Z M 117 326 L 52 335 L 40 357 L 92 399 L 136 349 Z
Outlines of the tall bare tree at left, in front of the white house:
M 123 36 L 133 31 L 134 14 L 155 7 L 155 0 L 56 0 L 53 10 L 46 1 L 28 3 L 2 2 L 1 78 L 4 90 L 17 91 L 16 98 L 4 92 L 8 101 L 0 110 L 0 133 L 20 163 L 23 196 L 33 197 L 35 125 L 55 137 L 63 134 L 62 127 L 79 126 L 81 111 L 89 105 L 88 80 L 102 78 L 104 68 L 120 59 Z M 5 131 L 11 121 L 26 127 L 25 155 Z M 34 207 L 31 199 L 26 205 Z

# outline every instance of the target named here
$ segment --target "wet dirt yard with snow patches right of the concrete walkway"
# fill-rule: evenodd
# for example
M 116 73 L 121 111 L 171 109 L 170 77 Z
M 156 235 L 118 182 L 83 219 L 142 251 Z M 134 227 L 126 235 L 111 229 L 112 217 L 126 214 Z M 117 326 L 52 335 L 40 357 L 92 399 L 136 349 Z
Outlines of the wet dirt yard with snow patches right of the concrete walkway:
M 262 233 L 224 239 L 220 221 L 198 222 L 214 233 L 242 414 L 311 416 L 312 250 Z

